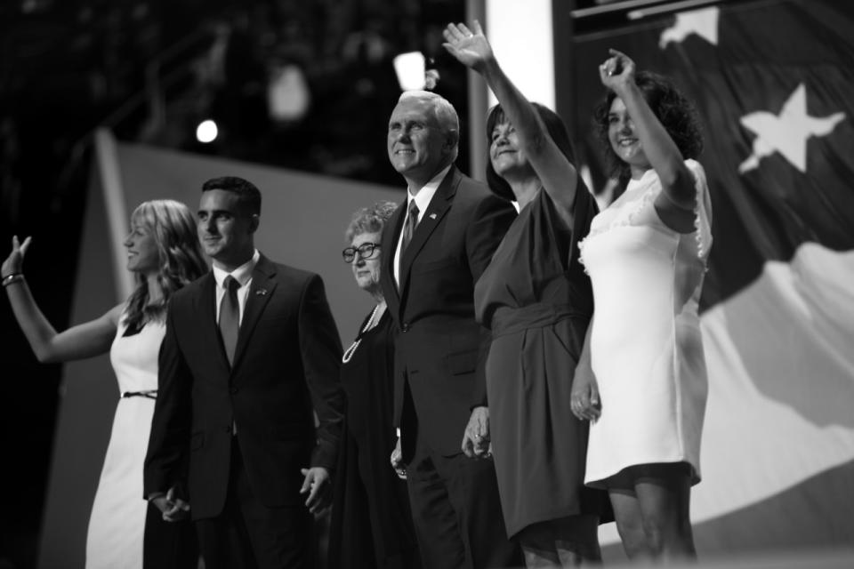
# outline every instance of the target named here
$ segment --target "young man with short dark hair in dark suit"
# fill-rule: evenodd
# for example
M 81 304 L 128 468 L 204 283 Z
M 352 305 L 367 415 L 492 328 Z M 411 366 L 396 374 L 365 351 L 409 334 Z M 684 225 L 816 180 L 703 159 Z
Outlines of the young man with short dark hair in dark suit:
M 314 566 L 340 437 L 323 282 L 255 249 L 260 212 L 251 182 L 205 182 L 198 236 L 214 268 L 174 294 L 160 349 L 145 496 L 166 519 L 192 506 L 207 569 Z

